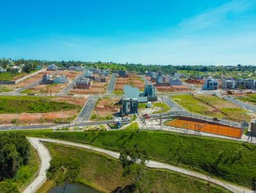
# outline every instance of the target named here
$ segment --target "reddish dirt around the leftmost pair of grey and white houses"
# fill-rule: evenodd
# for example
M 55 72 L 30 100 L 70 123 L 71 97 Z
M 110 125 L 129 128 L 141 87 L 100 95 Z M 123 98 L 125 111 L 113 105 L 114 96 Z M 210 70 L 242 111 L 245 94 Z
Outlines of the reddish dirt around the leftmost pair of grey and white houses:
M 60 71 L 56 73 L 56 75 L 66 75 L 68 77 L 68 81 L 71 82 L 74 80 L 81 72 L 74 71 Z M 33 88 L 30 88 L 29 91 L 32 93 L 59 93 L 65 87 L 68 86 L 69 83 L 65 84 L 38 84 Z

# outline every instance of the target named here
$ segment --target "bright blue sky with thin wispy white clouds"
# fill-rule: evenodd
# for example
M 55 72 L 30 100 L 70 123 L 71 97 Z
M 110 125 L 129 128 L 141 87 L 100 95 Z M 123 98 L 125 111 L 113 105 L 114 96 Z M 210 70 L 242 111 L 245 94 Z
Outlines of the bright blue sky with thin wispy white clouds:
M 256 1 L 0 1 L 0 58 L 256 65 Z

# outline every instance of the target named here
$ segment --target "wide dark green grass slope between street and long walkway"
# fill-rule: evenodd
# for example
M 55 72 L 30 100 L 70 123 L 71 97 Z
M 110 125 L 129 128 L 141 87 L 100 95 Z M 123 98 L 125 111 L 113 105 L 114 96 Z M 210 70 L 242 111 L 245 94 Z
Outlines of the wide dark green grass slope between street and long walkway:
M 253 144 L 160 131 L 20 132 L 92 144 L 113 151 L 138 143 L 153 160 L 211 174 L 247 187 L 252 187 L 256 178 L 256 146 Z

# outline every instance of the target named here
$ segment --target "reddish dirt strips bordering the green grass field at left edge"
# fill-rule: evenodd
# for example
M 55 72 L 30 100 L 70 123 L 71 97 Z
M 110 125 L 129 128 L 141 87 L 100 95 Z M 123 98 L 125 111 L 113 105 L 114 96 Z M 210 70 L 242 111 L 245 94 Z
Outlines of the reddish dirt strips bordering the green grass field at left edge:
M 83 105 L 86 102 L 84 97 L 74 97 L 74 96 L 60 96 L 52 98 L 52 101 L 56 102 L 67 102 L 69 104 Z M 77 109 L 68 111 L 57 111 L 57 112 L 45 112 L 45 113 L 20 113 L 17 115 L 17 119 L 20 124 L 36 124 L 36 123 L 52 123 L 54 120 L 63 118 L 63 121 L 72 121 L 76 118 L 79 112 Z M 16 114 L 0 114 L 0 124 L 11 124 L 15 122 Z

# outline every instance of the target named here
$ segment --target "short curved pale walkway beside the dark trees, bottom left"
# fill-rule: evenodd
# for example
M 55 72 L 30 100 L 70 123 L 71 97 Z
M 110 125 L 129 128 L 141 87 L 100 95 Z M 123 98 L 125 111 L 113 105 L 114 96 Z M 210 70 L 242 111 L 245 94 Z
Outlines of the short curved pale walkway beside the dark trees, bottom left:
M 23 193 L 31 193 L 36 192 L 41 185 L 47 180 L 46 178 L 46 170 L 50 167 L 51 155 L 47 148 L 37 139 L 28 137 L 29 142 L 32 144 L 41 160 L 40 170 L 38 176 L 36 176 L 35 180 L 32 181 L 28 187 L 23 191 Z

